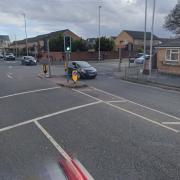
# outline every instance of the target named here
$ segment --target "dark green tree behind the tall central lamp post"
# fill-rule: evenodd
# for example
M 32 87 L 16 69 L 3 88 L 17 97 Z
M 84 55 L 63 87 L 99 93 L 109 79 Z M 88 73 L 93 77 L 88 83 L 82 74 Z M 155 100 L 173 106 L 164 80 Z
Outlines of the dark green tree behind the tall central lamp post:
M 114 49 L 114 41 L 112 39 L 108 39 L 106 37 L 101 37 L 100 38 L 100 43 L 101 43 L 101 51 L 112 51 Z M 95 44 L 95 50 L 98 51 L 99 49 L 99 39 L 96 39 L 96 44 Z

